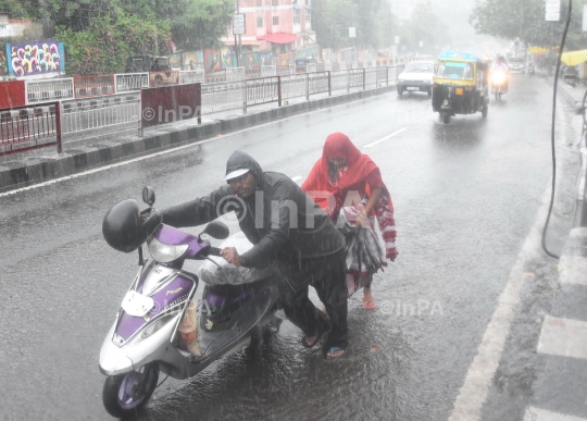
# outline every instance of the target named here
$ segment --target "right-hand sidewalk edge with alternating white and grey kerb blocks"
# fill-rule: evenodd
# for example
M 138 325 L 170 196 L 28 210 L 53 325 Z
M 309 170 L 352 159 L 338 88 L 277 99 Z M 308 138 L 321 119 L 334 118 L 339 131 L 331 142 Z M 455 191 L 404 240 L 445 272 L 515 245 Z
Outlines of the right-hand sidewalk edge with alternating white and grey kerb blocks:
M 585 86 L 560 83 L 560 95 L 580 113 Z M 577 176 L 574 225 L 559 260 L 559 284 L 546 314 L 536 352 L 535 381 L 524 421 L 587 421 L 587 219 L 584 213 L 587 150 L 583 121 L 582 165 Z M 573 124 L 575 126 L 575 124 Z

